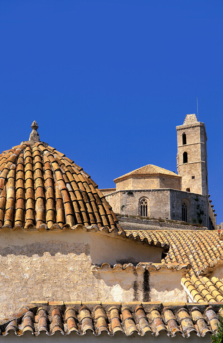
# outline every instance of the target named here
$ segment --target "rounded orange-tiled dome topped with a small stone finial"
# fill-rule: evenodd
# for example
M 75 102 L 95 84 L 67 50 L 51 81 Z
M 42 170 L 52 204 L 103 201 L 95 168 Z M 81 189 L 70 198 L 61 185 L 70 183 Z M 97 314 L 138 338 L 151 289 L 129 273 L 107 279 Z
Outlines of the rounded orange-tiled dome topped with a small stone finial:
M 104 195 L 71 159 L 39 142 L 33 122 L 30 141 L 0 155 L 0 227 L 73 227 L 122 231 Z

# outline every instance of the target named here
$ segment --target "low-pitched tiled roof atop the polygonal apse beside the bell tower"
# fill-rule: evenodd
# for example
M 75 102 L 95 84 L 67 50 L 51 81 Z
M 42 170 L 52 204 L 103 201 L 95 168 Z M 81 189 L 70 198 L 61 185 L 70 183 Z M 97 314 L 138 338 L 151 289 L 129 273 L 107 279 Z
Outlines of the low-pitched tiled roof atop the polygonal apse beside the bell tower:
M 114 181 L 117 182 L 117 181 L 124 179 L 128 176 L 131 176 L 131 175 L 154 175 L 154 174 L 162 174 L 162 175 L 180 177 L 179 175 L 175 174 L 173 171 L 169 171 L 167 169 L 154 166 L 153 164 L 147 164 L 144 167 L 132 170 L 132 171 L 130 171 L 130 173 L 127 173 L 125 175 L 117 177 Z

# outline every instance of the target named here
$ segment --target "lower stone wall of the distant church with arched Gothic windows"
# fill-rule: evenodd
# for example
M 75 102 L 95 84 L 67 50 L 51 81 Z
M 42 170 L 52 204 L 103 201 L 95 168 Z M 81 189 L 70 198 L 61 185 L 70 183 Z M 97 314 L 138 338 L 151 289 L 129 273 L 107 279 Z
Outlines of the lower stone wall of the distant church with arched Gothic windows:
M 117 191 L 106 196 L 115 213 L 134 216 L 140 215 L 139 201 L 142 198 L 148 200 L 149 217 L 181 221 L 182 203 L 186 201 L 188 222 L 198 223 L 201 219 L 204 226 L 208 225 L 206 197 L 200 194 L 174 189 L 144 189 Z

